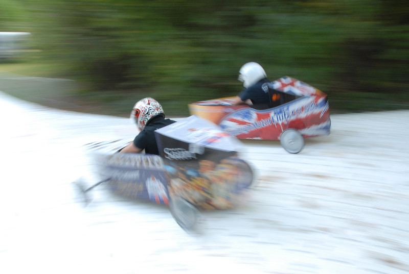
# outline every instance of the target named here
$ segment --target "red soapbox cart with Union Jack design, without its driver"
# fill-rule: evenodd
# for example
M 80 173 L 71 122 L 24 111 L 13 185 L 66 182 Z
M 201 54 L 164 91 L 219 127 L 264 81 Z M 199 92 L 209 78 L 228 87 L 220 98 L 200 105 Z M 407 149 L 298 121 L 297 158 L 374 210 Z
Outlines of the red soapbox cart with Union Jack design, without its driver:
M 190 114 L 218 124 L 239 139 L 280 140 L 289 153 L 304 148 L 304 138 L 330 134 L 327 95 L 306 83 L 283 77 L 263 86 L 265 105 L 232 105 L 234 97 L 188 105 Z

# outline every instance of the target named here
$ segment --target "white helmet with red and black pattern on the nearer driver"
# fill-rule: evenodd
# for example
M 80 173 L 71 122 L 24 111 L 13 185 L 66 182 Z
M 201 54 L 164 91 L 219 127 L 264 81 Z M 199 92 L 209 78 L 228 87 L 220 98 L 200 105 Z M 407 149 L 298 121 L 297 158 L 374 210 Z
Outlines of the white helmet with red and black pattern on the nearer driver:
M 148 121 L 157 115 L 165 116 L 161 104 L 157 103 L 155 99 L 147 97 L 135 104 L 131 112 L 131 119 L 140 130 L 143 130 Z

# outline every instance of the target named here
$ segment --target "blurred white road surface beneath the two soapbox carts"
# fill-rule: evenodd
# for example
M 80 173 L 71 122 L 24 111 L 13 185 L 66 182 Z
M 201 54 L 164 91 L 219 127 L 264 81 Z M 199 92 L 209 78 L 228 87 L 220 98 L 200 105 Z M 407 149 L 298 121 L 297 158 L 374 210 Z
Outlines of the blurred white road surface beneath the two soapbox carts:
M 167 207 L 95 183 L 82 145 L 133 137 L 129 119 L 0 92 L 0 273 L 409 273 L 409 111 L 332 115 L 300 154 L 243 141 L 256 182 L 187 234 Z M 89 180 L 89 181 L 88 181 Z

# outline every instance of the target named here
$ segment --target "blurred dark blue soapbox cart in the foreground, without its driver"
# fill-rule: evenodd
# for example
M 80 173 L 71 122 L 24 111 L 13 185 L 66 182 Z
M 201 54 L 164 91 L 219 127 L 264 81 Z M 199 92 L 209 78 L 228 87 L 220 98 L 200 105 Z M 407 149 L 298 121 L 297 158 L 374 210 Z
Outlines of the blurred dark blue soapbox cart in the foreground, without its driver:
M 238 158 L 240 141 L 215 124 L 190 116 L 155 131 L 161 155 L 117 153 L 130 140 L 86 145 L 100 181 L 116 194 L 170 207 L 178 225 L 194 231 L 200 211 L 240 203 L 253 171 Z

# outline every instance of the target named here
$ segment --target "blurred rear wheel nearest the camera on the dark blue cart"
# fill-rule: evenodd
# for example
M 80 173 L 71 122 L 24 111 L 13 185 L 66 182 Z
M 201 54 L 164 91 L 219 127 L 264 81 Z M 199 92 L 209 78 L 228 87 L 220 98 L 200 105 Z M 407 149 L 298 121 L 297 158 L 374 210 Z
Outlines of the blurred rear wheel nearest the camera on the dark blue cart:
M 184 198 L 173 198 L 169 204 L 170 212 L 177 224 L 186 231 L 192 232 L 196 229 L 199 211 Z

